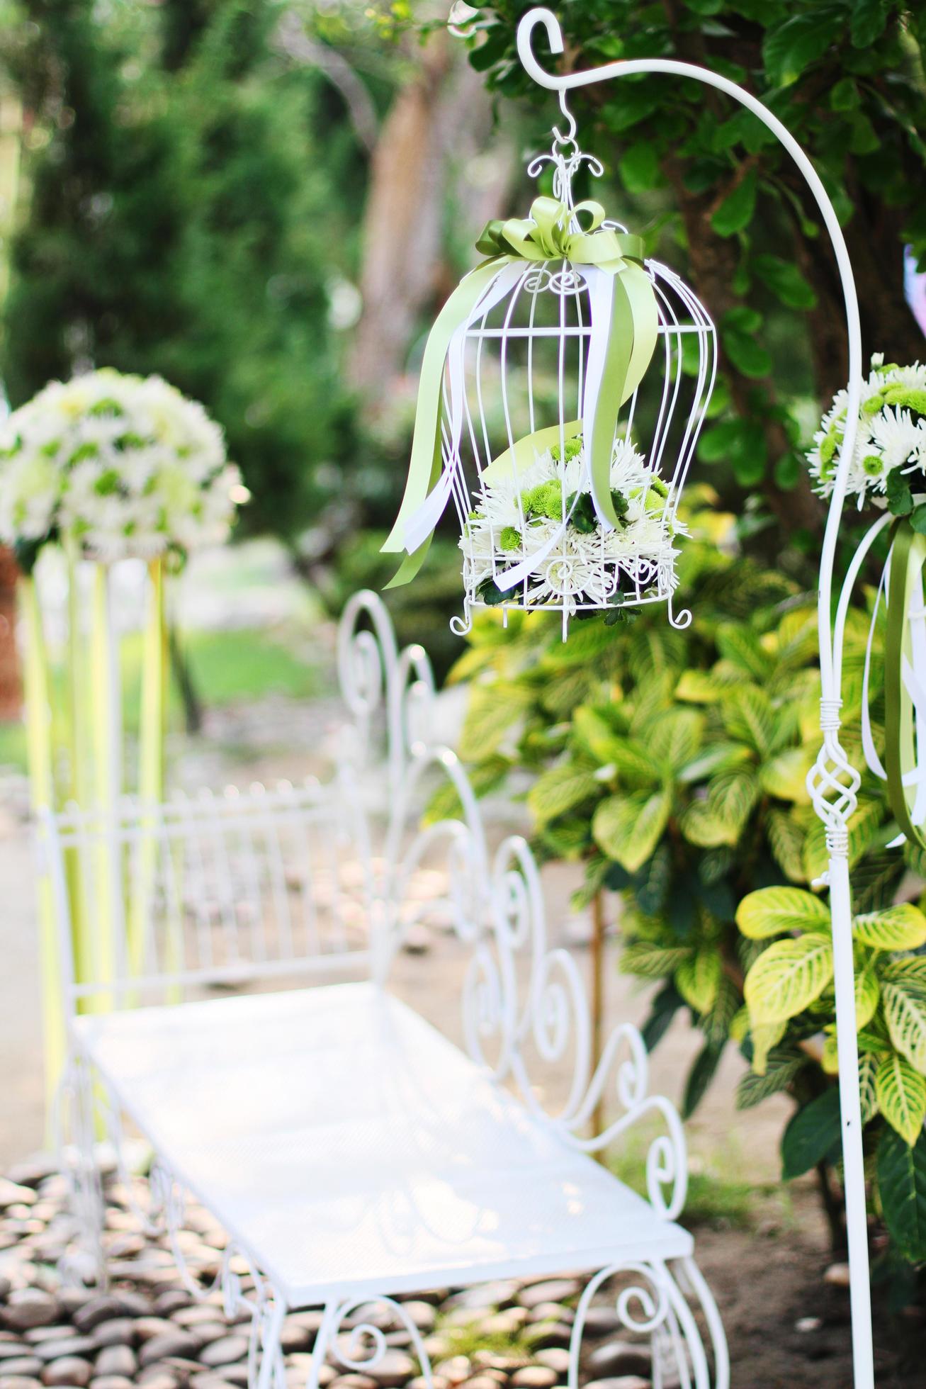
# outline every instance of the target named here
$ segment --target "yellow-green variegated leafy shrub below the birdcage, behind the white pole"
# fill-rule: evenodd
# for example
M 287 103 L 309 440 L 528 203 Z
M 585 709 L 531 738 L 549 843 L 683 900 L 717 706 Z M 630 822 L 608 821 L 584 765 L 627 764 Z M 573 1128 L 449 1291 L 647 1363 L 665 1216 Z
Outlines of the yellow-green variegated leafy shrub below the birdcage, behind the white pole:
M 647 1045 L 679 1010 L 702 1032 L 683 1110 L 739 1046 L 750 1061 L 740 1107 L 780 1092 L 797 1101 L 782 1142 L 790 1178 L 839 1163 L 840 1133 L 830 915 L 809 889 L 826 865 L 805 786 L 819 749 L 816 614 L 780 574 L 698 540 L 707 525 L 691 518 L 682 554 L 698 614 L 684 632 L 644 608 L 629 629 L 576 624 L 564 644 L 541 614 L 510 614 L 507 632 L 487 615 L 451 678 L 475 678 L 476 771 L 501 753 L 532 778 L 537 853 L 584 861 L 579 904 L 601 886 L 622 895 L 622 968 L 661 986 Z M 850 613 L 843 736 L 857 764 L 866 636 L 868 614 Z M 877 724 L 876 676 L 870 697 Z M 894 901 L 905 872 L 884 853 L 894 833 L 865 779 L 850 833 L 862 1114 L 870 1147 L 891 1132 L 909 1151 L 926 1115 L 926 956 L 915 953 L 926 915 Z

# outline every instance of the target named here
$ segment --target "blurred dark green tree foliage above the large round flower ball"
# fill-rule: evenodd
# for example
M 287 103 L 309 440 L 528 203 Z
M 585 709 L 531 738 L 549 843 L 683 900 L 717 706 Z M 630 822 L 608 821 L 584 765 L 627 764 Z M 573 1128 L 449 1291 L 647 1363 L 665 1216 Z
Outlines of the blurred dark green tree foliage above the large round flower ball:
M 244 525 L 293 538 L 355 446 L 329 285 L 364 181 L 340 99 L 275 47 L 285 8 L 29 6 L 0 346 L 12 404 L 89 364 L 164 375 L 224 426 Z

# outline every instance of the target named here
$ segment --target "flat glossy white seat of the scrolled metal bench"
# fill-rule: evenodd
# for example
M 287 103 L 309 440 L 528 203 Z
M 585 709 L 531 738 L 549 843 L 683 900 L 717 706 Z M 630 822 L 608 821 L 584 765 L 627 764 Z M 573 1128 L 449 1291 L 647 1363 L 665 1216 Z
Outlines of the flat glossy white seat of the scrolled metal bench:
M 290 1307 L 691 1253 L 375 985 L 87 1015 L 75 1033 Z

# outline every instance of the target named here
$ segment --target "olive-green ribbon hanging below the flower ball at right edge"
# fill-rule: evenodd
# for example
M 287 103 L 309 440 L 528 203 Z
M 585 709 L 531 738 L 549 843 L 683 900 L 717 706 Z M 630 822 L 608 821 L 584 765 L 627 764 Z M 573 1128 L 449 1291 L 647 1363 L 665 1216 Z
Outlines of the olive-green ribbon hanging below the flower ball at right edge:
M 891 528 L 887 632 L 884 638 L 884 770 L 887 800 L 909 843 L 926 849 L 926 836 L 911 820 L 904 776 L 916 765 L 912 701 L 904 689 L 904 656 L 911 657 L 908 625 L 912 586 L 926 561 L 926 540 L 905 517 Z

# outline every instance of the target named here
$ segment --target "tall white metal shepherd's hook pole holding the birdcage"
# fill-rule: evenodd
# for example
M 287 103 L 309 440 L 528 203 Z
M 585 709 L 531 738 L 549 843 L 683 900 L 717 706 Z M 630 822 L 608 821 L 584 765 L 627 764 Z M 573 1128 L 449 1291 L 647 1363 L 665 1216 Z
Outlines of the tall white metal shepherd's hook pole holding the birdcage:
M 855 1389 L 873 1389 L 875 1365 L 872 1351 L 872 1307 L 868 1271 L 868 1221 L 865 1211 L 865 1167 L 862 1160 L 862 1117 L 858 1092 L 858 1038 L 855 1031 L 855 990 L 852 968 L 852 922 L 848 881 L 848 832 L 847 824 L 855 811 L 855 793 L 859 776 L 840 747 L 840 685 L 841 657 L 833 658 L 832 632 L 832 589 L 836 539 L 845 500 L 848 464 L 855 447 L 858 408 L 862 388 L 862 338 L 858 321 L 858 297 L 852 267 L 845 240 L 833 204 L 823 188 L 816 169 L 777 117 L 736 82 L 701 68 L 693 63 L 676 63 L 672 58 L 633 58 L 628 63 L 607 63 L 584 72 L 569 72 L 554 76 L 546 72 L 534 57 L 530 40 L 537 26 L 546 31 L 551 53 L 562 53 L 562 32 L 550 10 L 529 10 L 518 25 L 518 56 L 525 71 L 540 86 L 559 93 L 565 110 L 565 93 L 571 88 L 589 86 L 593 82 L 607 82 L 611 78 L 629 76 L 633 72 L 664 72 L 669 76 L 694 78 L 707 86 L 716 88 L 732 96 L 762 121 L 782 142 L 791 156 L 820 210 L 823 224 L 830 235 L 836 263 L 839 265 L 843 297 L 845 300 L 845 321 L 848 326 L 848 407 L 845 411 L 845 435 L 840 451 L 839 467 L 830 510 L 823 535 L 820 557 L 820 586 L 818 604 L 819 646 L 820 646 L 820 729 L 823 746 L 816 765 L 808 778 L 814 808 L 826 825 L 829 850 L 830 914 L 833 922 L 833 956 L 836 960 L 836 1024 L 839 1031 L 839 1085 L 843 1115 L 843 1161 L 845 1170 L 845 1221 L 848 1228 L 848 1256 L 852 1306 L 852 1358 Z

